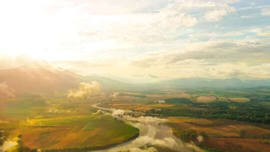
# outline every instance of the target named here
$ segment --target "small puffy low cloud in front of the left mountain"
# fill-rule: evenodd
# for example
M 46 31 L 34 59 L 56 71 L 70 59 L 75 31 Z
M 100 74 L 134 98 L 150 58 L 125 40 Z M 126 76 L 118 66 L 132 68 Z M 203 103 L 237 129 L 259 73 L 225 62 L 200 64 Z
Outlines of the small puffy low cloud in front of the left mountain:
M 77 89 L 69 89 L 68 98 L 84 98 L 100 91 L 100 84 L 97 81 L 91 83 L 80 82 Z

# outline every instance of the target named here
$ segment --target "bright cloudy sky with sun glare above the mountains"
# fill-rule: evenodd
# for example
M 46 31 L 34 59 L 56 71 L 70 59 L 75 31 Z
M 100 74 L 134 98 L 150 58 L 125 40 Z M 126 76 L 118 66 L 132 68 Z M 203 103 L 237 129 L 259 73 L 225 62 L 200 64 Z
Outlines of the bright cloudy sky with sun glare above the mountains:
M 133 79 L 270 77 L 269 0 L 1 0 L 0 68 Z

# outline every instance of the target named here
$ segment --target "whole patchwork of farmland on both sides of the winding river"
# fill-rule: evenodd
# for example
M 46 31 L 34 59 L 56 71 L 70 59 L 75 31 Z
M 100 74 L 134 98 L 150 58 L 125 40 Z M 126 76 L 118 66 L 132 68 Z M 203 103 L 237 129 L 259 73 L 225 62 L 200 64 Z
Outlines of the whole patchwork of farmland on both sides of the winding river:
M 162 123 L 171 127 L 176 137 L 185 142 L 193 140 L 204 149 L 235 151 L 254 144 L 269 150 L 266 91 L 269 90 L 130 90 L 87 99 L 24 95 L 1 102 L 1 129 L 10 139 L 21 135 L 23 144 L 30 149 L 50 151 L 107 148 L 138 136 L 137 128 L 91 106 L 100 103 L 101 107 L 123 109 L 134 117 L 166 119 Z M 198 135 L 203 135 L 203 142 L 197 141 Z M 251 146 L 243 149 L 256 151 Z

